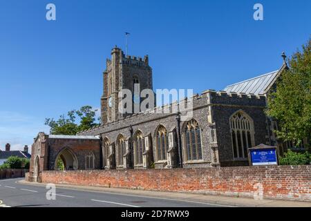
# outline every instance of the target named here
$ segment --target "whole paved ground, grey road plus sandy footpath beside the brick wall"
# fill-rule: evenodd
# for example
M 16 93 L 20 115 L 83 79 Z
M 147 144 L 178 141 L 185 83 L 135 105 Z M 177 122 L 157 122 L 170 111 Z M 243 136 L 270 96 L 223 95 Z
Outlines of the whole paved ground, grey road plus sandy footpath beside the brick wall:
M 222 195 L 114 189 L 57 184 L 48 200 L 46 184 L 25 180 L 0 180 L 2 206 L 53 207 L 311 207 L 311 202 L 254 200 Z M 1 202 L 0 202 L 1 204 Z

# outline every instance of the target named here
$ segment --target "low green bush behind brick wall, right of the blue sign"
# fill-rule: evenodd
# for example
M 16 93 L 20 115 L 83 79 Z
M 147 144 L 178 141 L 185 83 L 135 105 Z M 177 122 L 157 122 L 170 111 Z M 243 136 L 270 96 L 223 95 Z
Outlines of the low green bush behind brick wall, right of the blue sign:
M 280 158 L 280 165 L 306 165 L 310 164 L 311 154 L 308 152 L 305 153 L 296 153 L 293 151 L 288 151 L 285 153 L 284 157 Z

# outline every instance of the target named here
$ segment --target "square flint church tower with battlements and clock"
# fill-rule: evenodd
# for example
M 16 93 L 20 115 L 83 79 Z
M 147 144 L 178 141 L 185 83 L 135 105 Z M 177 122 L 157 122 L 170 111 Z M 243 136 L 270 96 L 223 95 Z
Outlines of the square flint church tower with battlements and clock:
M 148 55 L 144 59 L 124 52 L 115 46 L 111 51 L 111 59 L 106 60 L 104 71 L 104 91 L 101 99 L 102 124 L 115 122 L 130 113 L 119 112 L 118 94 L 122 89 L 131 90 L 134 94 L 134 85 L 140 85 L 140 91 L 144 89 L 153 90 L 152 68 L 149 66 Z

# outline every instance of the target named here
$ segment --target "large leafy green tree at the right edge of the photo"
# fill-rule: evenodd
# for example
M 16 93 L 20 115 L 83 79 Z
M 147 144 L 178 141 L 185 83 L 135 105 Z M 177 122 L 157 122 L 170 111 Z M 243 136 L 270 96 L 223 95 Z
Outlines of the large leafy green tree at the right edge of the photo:
M 298 146 L 311 135 L 311 39 L 288 59 L 276 82 L 276 90 L 268 95 L 267 115 L 276 119 L 276 132 L 281 140 L 292 140 Z

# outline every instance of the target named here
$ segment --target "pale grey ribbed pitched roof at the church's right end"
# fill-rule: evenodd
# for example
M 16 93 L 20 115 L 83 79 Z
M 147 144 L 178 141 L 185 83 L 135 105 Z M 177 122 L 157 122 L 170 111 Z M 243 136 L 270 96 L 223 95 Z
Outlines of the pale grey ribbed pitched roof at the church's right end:
M 254 77 L 252 79 L 247 79 L 236 84 L 229 85 L 225 87 L 227 93 L 245 93 L 245 94 L 254 94 L 254 95 L 264 95 L 267 91 L 267 88 L 275 81 L 278 77 L 279 70 L 272 71 L 265 75 Z

